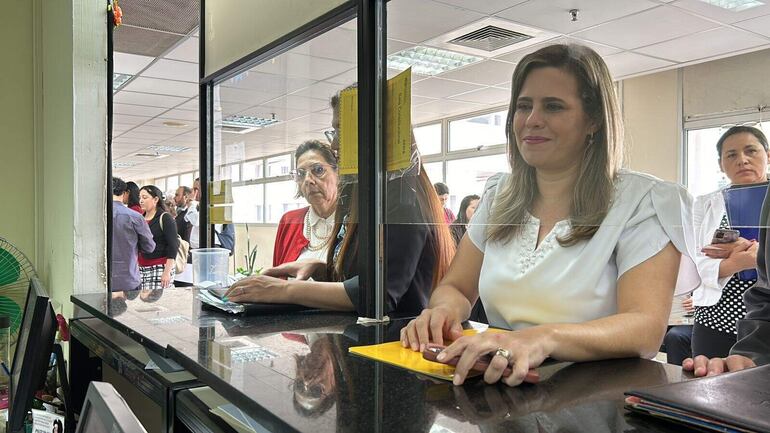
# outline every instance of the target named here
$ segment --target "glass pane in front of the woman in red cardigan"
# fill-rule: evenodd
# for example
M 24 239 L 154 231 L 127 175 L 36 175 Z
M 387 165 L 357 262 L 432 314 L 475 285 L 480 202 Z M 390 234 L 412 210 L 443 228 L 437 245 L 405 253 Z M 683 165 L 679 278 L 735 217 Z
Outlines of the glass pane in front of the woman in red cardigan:
M 344 22 L 213 86 L 209 222 L 215 245 L 233 227 L 229 268 L 251 277 L 252 301 L 356 310 L 353 283 L 343 286 L 357 275 L 358 97 L 344 91 L 358 75 L 356 27 Z M 260 276 L 287 264 L 312 280 L 295 279 L 296 268 Z M 258 298 L 276 276 L 301 286 L 296 297 Z

